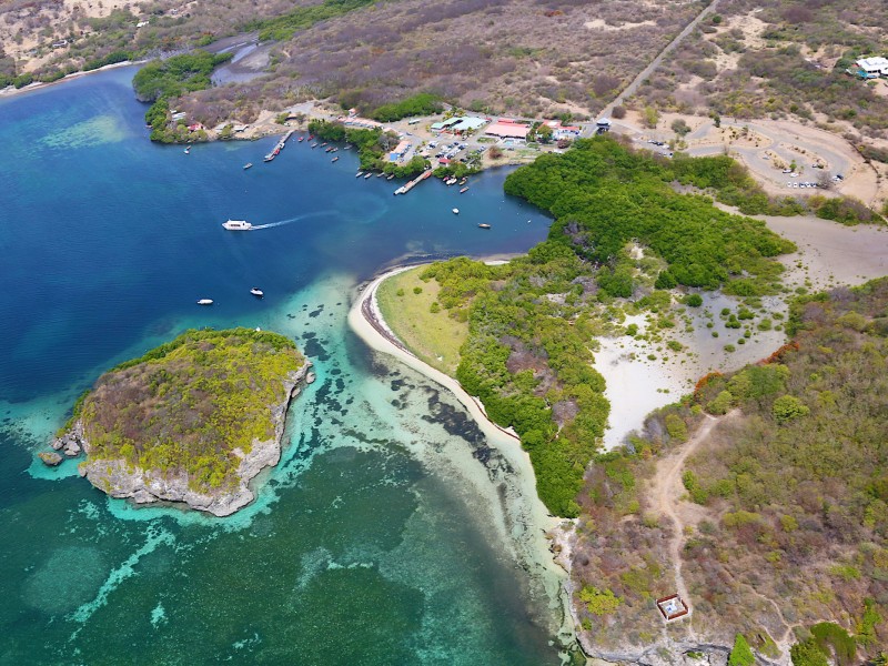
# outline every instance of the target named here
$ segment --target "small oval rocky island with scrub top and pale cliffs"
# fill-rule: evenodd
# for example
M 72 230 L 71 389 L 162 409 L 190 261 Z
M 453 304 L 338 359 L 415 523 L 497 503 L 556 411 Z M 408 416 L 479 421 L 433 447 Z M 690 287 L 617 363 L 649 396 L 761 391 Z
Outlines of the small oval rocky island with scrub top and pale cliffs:
M 82 450 L 81 476 L 113 497 L 226 516 L 280 461 L 286 410 L 310 367 L 276 333 L 186 331 L 100 376 L 53 448 Z

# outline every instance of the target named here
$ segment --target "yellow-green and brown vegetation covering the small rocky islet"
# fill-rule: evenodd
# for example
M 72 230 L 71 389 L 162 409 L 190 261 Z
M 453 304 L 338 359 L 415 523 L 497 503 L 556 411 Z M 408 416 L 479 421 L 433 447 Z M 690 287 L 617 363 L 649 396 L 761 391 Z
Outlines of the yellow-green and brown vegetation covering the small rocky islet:
M 276 333 L 188 331 L 104 373 L 78 401 L 73 421 L 82 422 L 91 462 L 184 471 L 196 491 L 226 487 L 253 441 L 274 437 L 273 412 L 304 364 Z

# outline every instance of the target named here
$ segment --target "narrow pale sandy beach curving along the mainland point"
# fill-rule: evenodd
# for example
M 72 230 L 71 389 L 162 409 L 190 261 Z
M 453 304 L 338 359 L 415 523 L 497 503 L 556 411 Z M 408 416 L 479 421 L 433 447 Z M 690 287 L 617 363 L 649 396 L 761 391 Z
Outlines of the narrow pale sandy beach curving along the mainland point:
M 488 258 L 488 261 L 502 260 L 497 256 L 496 259 Z M 549 607 L 553 612 L 557 609 L 557 613 L 561 614 L 557 636 L 562 648 L 568 652 L 582 649 L 569 594 L 569 561 L 564 556 L 558 557 L 558 553 L 563 548 L 563 535 L 565 532 L 569 533 L 571 525 L 566 525 L 565 519 L 549 514 L 539 500 L 529 455 L 521 447 L 517 435 L 493 423 L 481 403 L 468 395 L 456 380 L 414 356 L 386 325 L 379 310 L 376 304 L 379 285 L 386 278 L 417 265 L 422 264 L 398 265 L 376 274 L 356 294 L 349 311 L 349 326 L 372 350 L 393 356 L 450 391 L 468 411 L 491 447 L 497 450 L 511 463 L 514 471 L 515 493 L 506 493 L 506 495 L 518 497 L 524 506 L 519 507 L 518 511 L 522 515 L 518 516 L 506 515 L 508 509 L 505 506 L 502 506 L 500 511 L 504 512 L 505 526 L 516 546 L 518 563 L 528 572 L 537 572 L 549 599 Z

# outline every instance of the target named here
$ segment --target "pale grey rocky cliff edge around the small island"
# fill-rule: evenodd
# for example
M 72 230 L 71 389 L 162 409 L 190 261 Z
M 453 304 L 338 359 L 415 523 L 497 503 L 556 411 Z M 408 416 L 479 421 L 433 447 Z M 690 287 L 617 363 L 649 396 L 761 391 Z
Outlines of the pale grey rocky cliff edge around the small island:
M 291 373 L 283 383 L 283 400 L 272 407 L 274 437 L 260 442 L 253 440 L 249 453 L 240 448 L 234 454 L 241 457 L 238 467 L 236 485 L 219 488 L 218 492 L 201 493 L 189 487 L 189 477 L 184 470 L 172 470 L 162 473 L 159 470 L 142 470 L 129 465 L 124 460 L 90 458 L 90 443 L 83 436 L 83 425 L 74 426 L 57 442 L 75 443 L 87 453 L 87 461 L 80 464 L 80 475 L 100 491 L 112 497 L 129 497 L 137 504 L 153 502 L 182 502 L 190 508 L 205 511 L 215 516 L 228 516 L 250 504 L 254 491 L 250 482 L 265 467 L 276 465 L 281 460 L 281 441 L 286 424 L 286 410 L 290 402 L 300 393 L 300 385 L 311 367 L 306 362 L 297 372 Z M 53 444 L 54 446 L 54 444 Z

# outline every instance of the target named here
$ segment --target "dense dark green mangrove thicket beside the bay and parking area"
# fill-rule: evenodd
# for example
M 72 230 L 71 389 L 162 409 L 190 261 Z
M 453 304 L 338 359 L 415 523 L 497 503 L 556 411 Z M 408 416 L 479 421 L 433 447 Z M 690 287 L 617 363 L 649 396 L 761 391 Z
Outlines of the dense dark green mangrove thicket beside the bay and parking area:
M 725 173 L 736 171 L 748 178 L 729 158 L 664 164 L 596 138 L 575 142 L 564 154 L 541 155 L 511 173 L 505 190 L 551 211 L 556 220 L 549 238 L 585 260 L 607 264 L 633 239 L 649 245 L 669 264 L 657 279 L 658 289 L 716 289 L 744 278 L 744 290 L 773 293 L 783 268 L 770 258 L 795 245 L 764 222 L 730 215 L 706 198 L 669 186 L 679 176 L 700 186 L 723 186 L 730 182 Z M 605 291 L 626 294 L 626 276 L 618 268 L 608 271 L 601 276 Z

